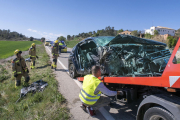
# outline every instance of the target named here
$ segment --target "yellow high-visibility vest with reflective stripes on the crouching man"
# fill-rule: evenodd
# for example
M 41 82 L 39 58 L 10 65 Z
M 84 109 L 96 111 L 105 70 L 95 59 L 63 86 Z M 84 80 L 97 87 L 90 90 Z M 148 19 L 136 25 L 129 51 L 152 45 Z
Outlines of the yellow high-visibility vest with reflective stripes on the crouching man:
M 87 105 L 93 105 L 101 96 L 101 91 L 97 95 L 94 94 L 97 86 L 101 81 L 93 75 L 86 75 L 83 81 L 83 87 L 79 94 L 81 101 Z

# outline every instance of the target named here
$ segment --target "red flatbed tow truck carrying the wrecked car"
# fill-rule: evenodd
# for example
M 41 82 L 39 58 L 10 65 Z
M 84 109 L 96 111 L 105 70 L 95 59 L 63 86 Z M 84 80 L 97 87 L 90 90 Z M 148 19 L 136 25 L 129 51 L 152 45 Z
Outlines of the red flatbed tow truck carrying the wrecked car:
M 141 99 L 136 120 L 180 120 L 180 64 L 173 59 L 180 47 L 180 38 L 163 71 L 158 77 L 104 77 L 102 82 L 112 90 L 121 90 L 127 104 Z M 83 77 L 77 78 L 83 81 Z

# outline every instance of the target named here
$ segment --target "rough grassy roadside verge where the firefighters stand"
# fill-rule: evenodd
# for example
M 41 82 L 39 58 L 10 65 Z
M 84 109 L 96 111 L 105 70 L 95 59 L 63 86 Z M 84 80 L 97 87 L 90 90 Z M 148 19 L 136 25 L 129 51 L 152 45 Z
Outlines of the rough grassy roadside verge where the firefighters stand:
M 58 82 L 50 69 L 49 56 L 43 45 L 37 47 L 37 69 L 29 69 L 30 83 L 37 80 L 48 82 L 43 92 L 28 93 L 18 103 L 20 86 L 15 89 L 15 78 L 12 76 L 11 63 L 0 65 L 0 119 L 1 120 L 67 120 L 69 111 L 65 98 L 58 92 Z M 28 55 L 24 56 L 27 58 Z M 30 62 L 26 63 L 28 68 Z M 22 78 L 22 83 L 24 78 Z

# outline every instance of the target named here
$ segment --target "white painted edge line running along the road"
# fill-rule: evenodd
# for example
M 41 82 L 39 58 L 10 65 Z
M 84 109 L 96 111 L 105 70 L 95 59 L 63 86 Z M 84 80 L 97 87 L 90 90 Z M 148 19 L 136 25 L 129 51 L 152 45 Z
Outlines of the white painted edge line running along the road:
M 48 47 L 47 47 L 48 48 Z M 48 48 L 49 52 L 51 52 L 51 50 Z M 63 63 L 58 59 L 58 62 L 59 64 L 61 64 L 61 66 L 66 70 L 66 72 L 69 74 L 69 71 L 68 69 L 63 65 Z M 74 82 L 80 87 L 82 88 L 82 83 L 79 82 L 77 79 L 73 79 Z M 106 118 L 106 120 L 115 120 L 111 114 L 109 114 L 109 112 L 104 108 L 104 107 L 101 107 L 99 109 L 99 111 L 101 112 L 101 114 Z

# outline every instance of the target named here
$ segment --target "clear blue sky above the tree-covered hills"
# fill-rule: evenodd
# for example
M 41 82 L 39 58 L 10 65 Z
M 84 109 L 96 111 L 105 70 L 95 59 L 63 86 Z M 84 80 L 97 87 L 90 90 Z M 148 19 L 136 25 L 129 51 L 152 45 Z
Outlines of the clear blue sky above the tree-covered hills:
M 55 40 L 107 26 L 180 28 L 180 0 L 0 0 L 0 29 Z

